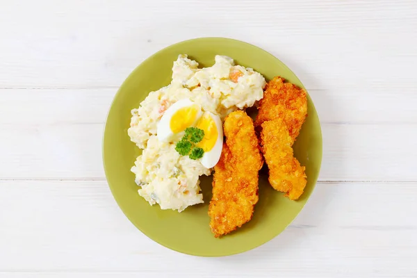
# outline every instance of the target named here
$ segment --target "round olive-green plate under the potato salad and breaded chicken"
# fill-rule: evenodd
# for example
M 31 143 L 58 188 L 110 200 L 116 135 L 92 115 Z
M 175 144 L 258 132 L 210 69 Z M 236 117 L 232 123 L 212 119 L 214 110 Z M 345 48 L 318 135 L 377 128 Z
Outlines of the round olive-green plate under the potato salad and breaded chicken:
M 230 56 L 245 67 L 252 67 L 270 80 L 280 75 L 302 87 L 297 76 L 280 60 L 268 52 L 238 40 L 227 38 L 198 38 L 173 44 L 150 56 L 124 81 L 113 100 L 103 139 L 103 161 L 108 185 L 129 220 L 143 234 L 157 243 L 178 252 L 196 256 L 226 256 L 258 247 L 283 231 L 302 210 L 315 186 L 322 159 L 320 122 L 309 97 L 309 116 L 295 142 L 295 156 L 306 166 L 308 177 L 304 194 L 290 201 L 272 189 L 265 169 L 259 179 L 259 202 L 254 216 L 240 229 L 222 238 L 214 238 L 208 227 L 208 203 L 211 199 L 211 177 L 202 177 L 204 204 L 186 208 L 185 211 L 163 211 L 150 206 L 138 195 L 134 174 L 130 171 L 140 150 L 127 135 L 131 109 L 152 90 L 168 85 L 171 68 L 179 54 L 188 54 L 200 66 L 213 65 L 216 54 Z M 277 250 L 279 252 L 279 250 Z

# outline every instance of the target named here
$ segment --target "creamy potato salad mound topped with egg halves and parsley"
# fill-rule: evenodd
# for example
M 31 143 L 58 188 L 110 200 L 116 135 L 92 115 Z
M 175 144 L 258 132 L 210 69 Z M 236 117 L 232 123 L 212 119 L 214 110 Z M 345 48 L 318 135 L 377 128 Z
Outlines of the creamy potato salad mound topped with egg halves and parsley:
M 131 111 L 128 134 L 142 149 L 131 171 L 139 195 L 161 209 L 181 212 L 203 202 L 199 177 L 220 158 L 224 117 L 263 97 L 263 76 L 232 58 L 218 55 L 212 67 L 198 66 L 179 55 L 170 85 Z

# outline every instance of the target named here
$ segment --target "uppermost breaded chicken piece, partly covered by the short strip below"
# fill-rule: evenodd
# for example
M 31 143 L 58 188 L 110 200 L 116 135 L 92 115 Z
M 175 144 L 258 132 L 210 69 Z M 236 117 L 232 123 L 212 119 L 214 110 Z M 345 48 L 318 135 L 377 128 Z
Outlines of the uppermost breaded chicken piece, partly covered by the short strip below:
M 279 118 L 284 121 L 291 138 L 295 140 L 307 115 L 306 91 L 292 83 L 284 83 L 283 78 L 275 76 L 265 86 L 258 111 L 255 126 Z

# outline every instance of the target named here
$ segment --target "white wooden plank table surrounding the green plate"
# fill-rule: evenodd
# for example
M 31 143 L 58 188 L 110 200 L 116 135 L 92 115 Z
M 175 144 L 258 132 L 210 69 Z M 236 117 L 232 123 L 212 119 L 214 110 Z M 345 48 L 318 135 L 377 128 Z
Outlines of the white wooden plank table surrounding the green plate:
M 141 234 L 101 163 L 126 76 L 206 36 L 286 63 L 324 139 L 291 227 L 226 258 Z M 417 277 L 416 68 L 415 0 L 0 0 L 0 277 Z

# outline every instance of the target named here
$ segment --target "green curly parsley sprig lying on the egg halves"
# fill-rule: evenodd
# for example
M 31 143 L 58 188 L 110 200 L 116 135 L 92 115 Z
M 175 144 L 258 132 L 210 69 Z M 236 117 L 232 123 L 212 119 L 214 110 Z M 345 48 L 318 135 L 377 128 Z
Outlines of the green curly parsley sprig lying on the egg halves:
M 181 156 L 188 155 L 191 159 L 202 158 L 204 150 L 201 147 L 195 147 L 195 144 L 203 140 L 204 130 L 197 127 L 187 127 L 186 134 L 177 142 L 175 150 L 181 154 Z M 190 153 L 191 152 L 191 153 Z

